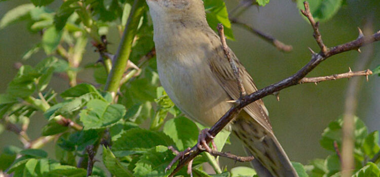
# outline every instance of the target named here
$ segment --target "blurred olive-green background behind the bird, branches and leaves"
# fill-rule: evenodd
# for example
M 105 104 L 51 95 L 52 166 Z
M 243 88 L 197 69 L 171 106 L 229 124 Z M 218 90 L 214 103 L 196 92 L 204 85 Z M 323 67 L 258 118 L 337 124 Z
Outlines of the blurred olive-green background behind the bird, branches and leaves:
M 361 2 L 361 3 L 359 3 Z M 4 14 L 28 1 L 5 1 L 0 3 L 0 18 Z M 56 2 L 60 3 L 60 2 Z M 227 8 L 233 9 L 239 1 L 227 1 Z M 52 4 L 56 8 L 59 4 Z M 373 31 L 380 29 L 379 9 L 370 7 L 363 1 L 347 1 L 347 5 L 329 21 L 320 25 L 324 43 L 328 47 L 339 45 L 356 39 L 357 27 L 363 27 L 372 21 Z M 229 46 L 239 57 L 246 69 L 252 75 L 258 88 L 275 83 L 291 74 L 310 60 L 308 47 L 319 51 L 313 38 L 313 31 L 309 23 L 302 19 L 296 3 L 292 1 L 272 0 L 265 7 L 251 7 L 239 17 L 240 21 L 251 24 L 256 29 L 271 34 L 280 41 L 293 46 L 290 53 L 282 53 L 268 42 L 256 35 L 233 25 L 236 40 L 227 41 Z M 118 47 L 119 35 L 110 29 L 108 36 L 109 51 L 115 53 Z M 4 93 L 7 84 L 15 76 L 16 62 L 34 65 L 44 58 L 43 53 L 37 53 L 27 61 L 21 61 L 21 56 L 40 39 L 40 34 L 31 34 L 25 23 L 17 23 L 0 30 L 0 93 Z M 371 63 L 368 68 L 373 69 L 380 64 L 380 45 L 363 47 L 362 53 L 373 48 Z M 339 54 L 329 58 L 317 67 L 309 76 L 322 76 L 347 72 L 349 67 L 355 70 L 355 62 L 360 54 L 355 51 Z M 93 63 L 98 60 L 94 48 L 87 46 L 83 63 Z M 85 81 L 92 80 L 92 71 L 85 70 L 79 73 L 79 78 Z M 361 78 L 365 80 L 365 78 Z M 59 93 L 67 89 L 67 81 L 54 77 L 52 87 Z M 265 97 L 264 103 L 270 112 L 270 120 L 275 134 L 288 153 L 292 161 L 306 164 L 313 158 L 324 158 L 327 151 L 319 145 L 320 135 L 331 120 L 337 119 L 344 111 L 345 92 L 348 79 L 321 82 L 318 85 L 309 83 L 290 87 L 280 93 L 278 102 L 274 96 Z M 357 115 L 366 122 L 370 131 L 380 130 L 380 77 L 370 76 L 368 82 L 363 82 L 358 100 Z M 32 139 L 39 137 L 41 128 L 47 120 L 36 114 L 28 129 Z M 244 155 L 243 148 L 233 137 L 232 145 L 227 145 L 225 151 Z M 11 132 L 0 134 L 0 148 L 6 145 L 22 146 L 17 137 Z M 53 152 L 53 146 L 44 149 Z M 49 153 L 50 154 L 50 153 Z M 51 155 L 51 154 L 50 154 Z M 223 159 L 224 163 L 233 164 L 232 160 Z

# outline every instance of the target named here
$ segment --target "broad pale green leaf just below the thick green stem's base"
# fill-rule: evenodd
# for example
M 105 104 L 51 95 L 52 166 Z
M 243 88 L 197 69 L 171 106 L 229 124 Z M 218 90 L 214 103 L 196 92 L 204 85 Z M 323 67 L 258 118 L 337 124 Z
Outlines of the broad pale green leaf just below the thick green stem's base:
M 126 109 L 120 104 L 110 104 L 102 100 L 90 100 L 87 109 L 79 114 L 85 129 L 103 128 L 123 118 Z

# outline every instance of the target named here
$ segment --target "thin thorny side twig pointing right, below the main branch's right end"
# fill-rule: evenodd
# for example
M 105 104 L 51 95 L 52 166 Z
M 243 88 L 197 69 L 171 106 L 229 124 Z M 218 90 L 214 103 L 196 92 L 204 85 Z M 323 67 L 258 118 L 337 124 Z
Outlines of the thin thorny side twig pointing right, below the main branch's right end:
M 351 78 L 353 76 L 368 76 L 372 75 L 372 71 L 367 69 L 364 71 L 356 71 L 352 72 L 351 69 L 349 72 L 341 73 L 341 74 L 333 74 L 329 76 L 322 76 L 322 77 L 303 77 L 301 80 L 298 81 L 298 83 L 318 83 L 321 81 L 326 80 L 336 80 L 341 78 Z

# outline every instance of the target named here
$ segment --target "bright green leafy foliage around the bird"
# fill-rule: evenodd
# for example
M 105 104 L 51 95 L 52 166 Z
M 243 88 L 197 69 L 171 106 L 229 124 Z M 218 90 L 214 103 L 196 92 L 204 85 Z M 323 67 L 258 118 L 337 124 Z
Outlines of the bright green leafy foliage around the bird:
M 4 0 L 3 0 L 4 1 Z M 109 29 L 120 33 L 133 12 L 130 0 L 67 0 L 58 9 L 47 7 L 53 0 L 31 0 L 30 4 L 18 6 L 1 19 L 0 29 L 19 21 L 26 21 L 32 33 L 40 32 L 41 41 L 36 42 L 22 57 L 32 58 L 42 50 L 47 57 L 35 66 L 23 65 L 9 83 L 5 94 L 0 94 L 0 133 L 7 125 L 21 126 L 19 134 L 23 148 L 8 146 L 0 154 L 0 170 L 13 176 L 86 176 L 87 148 L 96 153 L 102 148 L 101 162 L 93 168 L 93 176 L 167 176 L 171 170 L 165 167 L 174 158 L 168 149 L 179 151 L 197 143 L 198 132 L 203 127 L 183 116 L 158 83 L 154 59 L 140 60 L 154 48 L 153 26 L 147 8 L 141 9 L 141 17 L 134 19 L 136 27 L 129 60 L 141 69 L 128 68 L 115 98 L 106 92 L 105 83 L 111 69 L 107 54 L 107 41 L 103 35 Z M 260 6 L 269 0 L 257 0 Z M 298 3 L 299 4 L 299 3 Z M 313 15 L 326 20 L 340 8 L 341 1 L 311 1 Z M 225 34 L 234 39 L 225 3 L 221 0 L 204 0 L 207 20 L 215 29 L 217 23 L 224 25 Z M 146 6 L 145 4 L 143 6 Z M 80 67 L 88 41 L 103 57 L 103 64 Z M 77 73 L 93 70 L 97 83 L 77 83 Z M 123 68 L 124 69 L 124 68 Z M 379 73 L 379 67 L 375 72 Z M 54 75 L 64 75 L 69 89 L 58 94 L 49 83 Z M 96 86 L 95 86 L 96 85 Z M 24 131 L 36 113 L 43 113 L 47 120 L 41 131 L 42 137 L 30 140 Z M 150 125 L 147 127 L 147 122 Z M 333 121 L 322 134 L 321 145 L 332 151 L 326 159 L 315 159 L 304 166 L 294 162 L 299 176 L 338 175 L 339 159 L 333 142 L 340 147 L 341 120 Z M 11 130 L 10 128 L 7 128 Z M 230 133 L 222 131 L 215 137 L 218 150 L 229 143 Z M 368 134 L 360 119 L 356 119 L 354 176 L 379 176 L 378 132 Z M 56 139 L 55 154 L 48 155 L 40 148 Z M 81 160 L 78 160 L 81 159 Z M 368 159 L 371 159 L 369 162 Z M 217 161 L 208 155 L 198 156 L 194 163 L 196 176 L 252 176 L 250 167 L 235 167 L 220 174 L 207 174 L 202 163 Z M 217 163 L 214 163 L 217 164 Z M 220 168 L 213 166 L 214 168 Z M 307 172 L 307 173 L 306 173 Z M 179 175 L 185 175 L 181 170 Z

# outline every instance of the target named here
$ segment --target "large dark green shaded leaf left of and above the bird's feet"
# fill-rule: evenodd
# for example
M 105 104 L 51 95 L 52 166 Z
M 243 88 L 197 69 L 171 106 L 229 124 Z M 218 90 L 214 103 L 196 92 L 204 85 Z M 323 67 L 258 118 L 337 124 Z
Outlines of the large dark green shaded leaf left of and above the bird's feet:
M 112 146 L 116 156 L 125 156 L 146 152 L 158 145 L 173 146 L 173 140 L 163 132 L 133 128 L 125 131 Z

